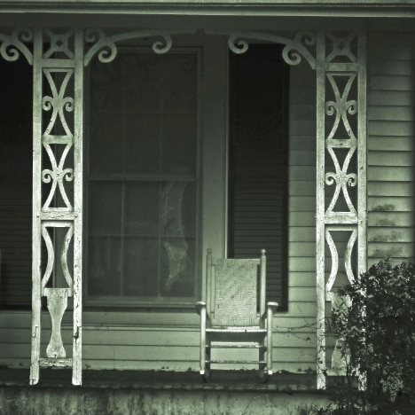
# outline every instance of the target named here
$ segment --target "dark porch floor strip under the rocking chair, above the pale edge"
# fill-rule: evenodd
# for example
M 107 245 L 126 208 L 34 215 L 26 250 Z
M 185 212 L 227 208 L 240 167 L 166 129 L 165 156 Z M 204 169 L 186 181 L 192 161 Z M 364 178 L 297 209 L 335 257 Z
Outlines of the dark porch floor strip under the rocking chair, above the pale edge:
M 71 384 L 72 371 L 41 369 L 35 388 L 79 388 Z M 28 369 L 0 368 L 0 387 L 29 385 Z M 256 371 L 213 371 L 208 382 L 199 372 L 83 370 L 81 388 L 143 390 L 316 391 L 315 373 L 274 373 L 263 382 Z

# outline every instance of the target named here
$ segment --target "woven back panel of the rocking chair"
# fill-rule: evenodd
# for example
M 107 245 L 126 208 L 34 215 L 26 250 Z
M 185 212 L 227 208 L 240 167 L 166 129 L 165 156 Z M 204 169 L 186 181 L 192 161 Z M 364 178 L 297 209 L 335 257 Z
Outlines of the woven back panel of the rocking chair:
M 212 325 L 258 325 L 257 281 L 259 259 L 219 259 L 215 278 Z

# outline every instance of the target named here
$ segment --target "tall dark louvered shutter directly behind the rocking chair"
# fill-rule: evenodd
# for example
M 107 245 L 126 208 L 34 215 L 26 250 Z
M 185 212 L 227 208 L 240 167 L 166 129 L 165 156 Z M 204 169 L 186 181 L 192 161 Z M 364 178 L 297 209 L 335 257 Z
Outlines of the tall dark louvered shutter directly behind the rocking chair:
M 267 251 L 267 300 L 286 309 L 288 66 L 278 44 L 230 61 L 228 253 Z

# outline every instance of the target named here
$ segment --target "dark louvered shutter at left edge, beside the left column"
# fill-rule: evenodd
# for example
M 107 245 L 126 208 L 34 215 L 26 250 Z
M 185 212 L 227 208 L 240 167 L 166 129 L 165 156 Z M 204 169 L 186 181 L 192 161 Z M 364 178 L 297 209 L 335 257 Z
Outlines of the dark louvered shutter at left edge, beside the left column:
M 32 67 L 0 59 L 0 308 L 32 290 Z

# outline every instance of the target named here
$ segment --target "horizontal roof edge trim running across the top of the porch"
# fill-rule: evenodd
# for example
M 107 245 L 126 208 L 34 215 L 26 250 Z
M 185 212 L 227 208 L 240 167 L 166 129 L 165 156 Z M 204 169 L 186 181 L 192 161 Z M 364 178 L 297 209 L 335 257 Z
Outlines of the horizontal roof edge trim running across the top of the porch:
M 0 0 L 0 12 L 409 18 L 415 0 Z

